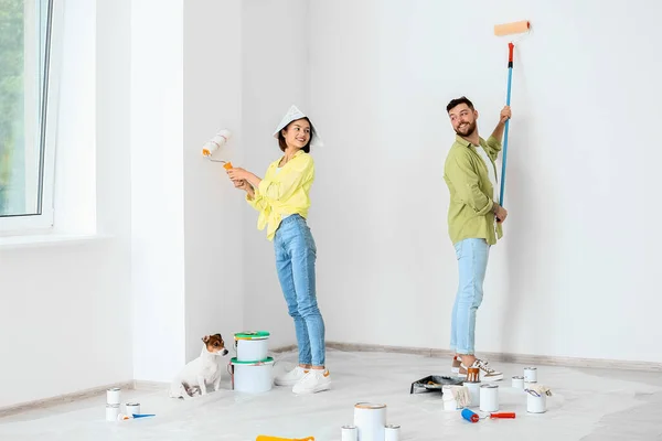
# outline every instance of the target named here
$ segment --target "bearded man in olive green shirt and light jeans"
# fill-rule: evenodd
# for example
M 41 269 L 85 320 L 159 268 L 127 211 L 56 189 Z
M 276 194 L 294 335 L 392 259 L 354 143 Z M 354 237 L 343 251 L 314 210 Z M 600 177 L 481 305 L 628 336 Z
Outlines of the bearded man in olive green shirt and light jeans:
M 451 316 L 450 347 L 456 355 L 452 372 L 460 377 L 468 367 L 478 367 L 481 381 L 503 379 L 503 374 L 476 358 L 476 312 L 482 302 L 483 280 L 490 247 L 503 235 L 501 224 L 508 212 L 499 205 L 496 165 L 505 121 L 511 117 L 509 106 L 492 136 L 478 135 L 478 111 L 466 97 L 451 100 L 446 107 L 456 141 L 448 152 L 444 180 L 450 192 L 448 232 L 459 263 L 459 287 Z

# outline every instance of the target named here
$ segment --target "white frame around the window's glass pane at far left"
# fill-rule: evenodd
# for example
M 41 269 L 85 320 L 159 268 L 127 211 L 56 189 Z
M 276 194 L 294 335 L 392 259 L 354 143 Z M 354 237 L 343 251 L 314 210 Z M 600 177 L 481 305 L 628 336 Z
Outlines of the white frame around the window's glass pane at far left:
M 38 211 L 40 213 L 0 216 L 0 236 L 43 234 L 50 233 L 54 228 L 55 152 L 57 144 L 60 76 L 62 72 L 60 67 L 63 43 L 63 30 L 61 25 L 63 23 L 63 2 L 60 0 L 46 1 L 43 80 L 39 83 L 43 99 L 41 109 L 39 109 L 40 119 L 36 121 L 41 127 L 25 127 L 25 132 L 33 130 L 34 133 L 39 132 L 39 137 L 41 138 L 38 186 Z M 36 21 L 33 21 L 33 23 L 36 23 Z M 41 52 L 35 58 L 38 63 L 40 63 L 39 57 L 41 57 Z

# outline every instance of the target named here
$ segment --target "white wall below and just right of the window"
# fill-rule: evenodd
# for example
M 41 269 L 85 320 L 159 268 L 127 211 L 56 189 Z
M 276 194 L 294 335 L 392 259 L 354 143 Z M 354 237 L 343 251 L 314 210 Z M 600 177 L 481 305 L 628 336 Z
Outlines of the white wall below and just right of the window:
M 103 236 L 0 246 L 0 376 L 7 379 L 0 408 L 134 377 L 127 266 L 130 186 L 118 180 L 129 170 L 128 138 L 121 126 L 110 130 L 116 121 L 104 118 L 105 109 L 95 111 L 97 103 L 102 107 L 110 100 L 128 115 L 122 108 L 126 95 L 108 94 L 114 82 L 122 80 L 121 69 L 114 66 L 117 56 L 127 53 L 127 40 L 116 19 L 128 0 L 106 3 L 98 9 L 84 0 L 65 3 L 58 151 L 73 170 L 86 172 L 75 179 L 58 173 L 55 180 L 56 194 L 70 202 L 63 207 L 65 215 L 55 218 L 60 233 L 94 233 L 88 214 L 95 209 L 89 204 L 98 202 L 96 224 Z M 108 63 L 96 64 L 95 54 L 109 50 L 110 26 L 118 34 L 111 37 Z M 98 94 L 95 83 L 100 85 Z M 105 136 L 96 138 L 96 149 L 95 128 Z M 113 150 L 107 149 L 113 141 Z M 86 181 L 90 176 L 96 186 Z M 75 180 L 81 181 L 74 184 Z M 89 189 L 76 189 L 82 183 L 90 185 L 92 194 Z

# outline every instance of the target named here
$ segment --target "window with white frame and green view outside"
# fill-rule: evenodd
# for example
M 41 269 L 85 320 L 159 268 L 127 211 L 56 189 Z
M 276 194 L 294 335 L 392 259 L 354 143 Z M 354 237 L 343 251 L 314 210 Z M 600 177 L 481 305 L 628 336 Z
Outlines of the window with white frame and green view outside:
M 53 226 L 53 0 L 0 0 L 0 233 Z

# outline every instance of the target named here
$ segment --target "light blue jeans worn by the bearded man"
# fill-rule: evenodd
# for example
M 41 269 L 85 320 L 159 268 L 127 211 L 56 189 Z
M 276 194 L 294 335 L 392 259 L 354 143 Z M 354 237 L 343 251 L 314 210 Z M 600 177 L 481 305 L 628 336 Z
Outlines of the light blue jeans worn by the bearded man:
M 473 355 L 476 312 L 482 303 L 490 246 L 485 239 L 465 239 L 457 243 L 455 249 L 459 286 L 450 320 L 450 349 Z

